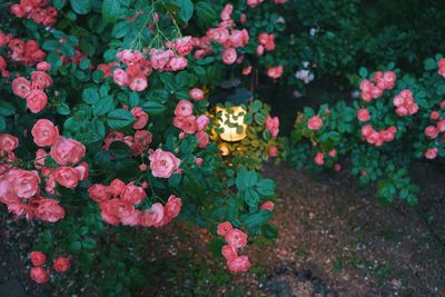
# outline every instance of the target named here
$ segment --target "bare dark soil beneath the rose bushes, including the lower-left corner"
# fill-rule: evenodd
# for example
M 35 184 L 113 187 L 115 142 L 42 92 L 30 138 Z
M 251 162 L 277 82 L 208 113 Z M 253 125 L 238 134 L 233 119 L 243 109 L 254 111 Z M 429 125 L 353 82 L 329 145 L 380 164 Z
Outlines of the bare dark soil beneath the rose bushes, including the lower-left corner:
M 279 194 L 273 221 L 279 235 L 243 251 L 250 273 L 228 274 L 209 251 L 211 236 L 177 221 L 147 245 L 152 281 L 140 296 L 443 296 L 445 175 L 425 164 L 412 172 L 418 206 L 383 207 L 374 189 L 357 188 L 346 172 L 313 179 L 266 165 Z M 13 239 L 2 226 L 1 241 Z M 0 296 L 39 296 L 26 259 L 6 245 L 0 257 Z

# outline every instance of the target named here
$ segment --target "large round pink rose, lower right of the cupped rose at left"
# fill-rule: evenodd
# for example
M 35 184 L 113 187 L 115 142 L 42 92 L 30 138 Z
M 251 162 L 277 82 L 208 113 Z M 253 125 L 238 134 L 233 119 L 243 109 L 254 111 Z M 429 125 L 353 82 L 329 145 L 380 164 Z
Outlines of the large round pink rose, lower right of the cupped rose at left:
M 52 159 L 59 165 L 75 165 L 83 158 L 85 154 L 86 148 L 82 143 L 65 137 L 59 137 L 50 151 Z

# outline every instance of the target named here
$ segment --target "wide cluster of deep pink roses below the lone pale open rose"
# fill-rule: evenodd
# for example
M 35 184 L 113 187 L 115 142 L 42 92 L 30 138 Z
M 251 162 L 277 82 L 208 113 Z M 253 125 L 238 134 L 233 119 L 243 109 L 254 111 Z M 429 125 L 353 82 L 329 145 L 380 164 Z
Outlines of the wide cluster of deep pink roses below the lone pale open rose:
M 144 188 L 132 181 L 126 185 L 120 179 L 109 186 L 95 184 L 88 192 L 99 204 L 102 219 L 110 225 L 162 227 L 179 215 L 182 206 L 181 199 L 171 195 L 165 206 L 156 202 L 150 209 L 139 210 L 136 206 L 147 197 Z

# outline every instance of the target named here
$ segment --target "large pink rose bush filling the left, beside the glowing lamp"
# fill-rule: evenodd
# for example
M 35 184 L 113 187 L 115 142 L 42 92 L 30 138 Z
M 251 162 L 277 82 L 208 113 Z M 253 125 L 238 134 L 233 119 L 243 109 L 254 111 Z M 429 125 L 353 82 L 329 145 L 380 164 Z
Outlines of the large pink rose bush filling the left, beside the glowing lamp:
M 148 264 L 135 260 L 144 240 L 178 217 L 215 231 L 230 225 L 218 235 L 231 273 L 250 267 L 243 249 L 253 238 L 276 236 L 267 224 L 275 185 L 255 169 L 278 154 L 278 118 L 248 103 L 248 143 L 258 147 L 260 136 L 265 145 L 229 168 L 208 100 L 222 78 L 249 76 L 249 67 L 280 77 L 281 66 L 257 65 L 254 53 L 259 43 L 274 50 L 274 28 L 243 26 L 243 11 L 260 2 L 7 3 L 0 202 L 36 225 L 33 250 L 23 251 L 36 283 L 75 278 L 92 293 L 129 295 L 145 284 Z

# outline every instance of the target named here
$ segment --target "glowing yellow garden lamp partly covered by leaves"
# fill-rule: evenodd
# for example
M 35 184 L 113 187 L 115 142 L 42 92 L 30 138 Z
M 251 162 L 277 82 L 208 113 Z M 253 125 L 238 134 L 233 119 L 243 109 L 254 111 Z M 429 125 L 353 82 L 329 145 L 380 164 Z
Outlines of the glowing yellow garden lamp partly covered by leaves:
M 246 110 L 240 106 L 230 107 L 229 109 L 233 110 L 233 113 L 229 113 L 226 108 L 216 108 L 216 112 L 221 113 L 221 120 L 218 120 L 218 125 L 224 129 L 219 137 L 229 142 L 243 140 L 246 138 L 247 125 L 244 123 Z M 238 127 L 229 127 L 226 123 L 227 119 L 229 119 L 230 123 L 237 123 Z

